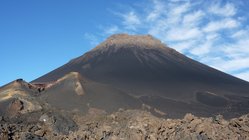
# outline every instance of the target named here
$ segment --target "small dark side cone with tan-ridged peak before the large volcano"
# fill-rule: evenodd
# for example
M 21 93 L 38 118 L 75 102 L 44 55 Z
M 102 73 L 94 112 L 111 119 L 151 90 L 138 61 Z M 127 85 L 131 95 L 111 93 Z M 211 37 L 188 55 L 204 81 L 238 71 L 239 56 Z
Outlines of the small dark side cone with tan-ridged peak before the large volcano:
M 83 78 L 71 72 L 58 79 L 40 96 L 52 107 L 86 114 L 91 109 L 114 112 L 119 108 L 140 109 L 141 102 L 113 87 Z

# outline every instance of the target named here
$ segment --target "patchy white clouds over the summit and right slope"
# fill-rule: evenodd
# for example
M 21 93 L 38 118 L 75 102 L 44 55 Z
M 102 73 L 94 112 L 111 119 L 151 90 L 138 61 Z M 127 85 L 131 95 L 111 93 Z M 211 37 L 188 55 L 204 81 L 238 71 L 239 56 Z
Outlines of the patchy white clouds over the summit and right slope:
M 112 8 L 117 19 L 102 34 L 151 34 L 177 51 L 249 81 L 249 17 L 246 1 L 144 0 Z M 117 14 L 118 13 L 118 14 Z

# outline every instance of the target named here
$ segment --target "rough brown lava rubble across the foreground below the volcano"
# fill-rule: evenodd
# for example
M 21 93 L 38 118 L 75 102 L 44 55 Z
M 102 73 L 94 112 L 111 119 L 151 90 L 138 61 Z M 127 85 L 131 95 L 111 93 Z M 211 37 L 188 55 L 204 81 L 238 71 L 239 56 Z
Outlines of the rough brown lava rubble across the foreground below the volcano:
M 88 115 L 48 111 L 0 118 L 0 139 L 28 140 L 155 140 L 249 139 L 249 114 L 225 120 L 222 116 L 163 119 L 146 111 L 122 110 L 106 114 L 90 109 Z

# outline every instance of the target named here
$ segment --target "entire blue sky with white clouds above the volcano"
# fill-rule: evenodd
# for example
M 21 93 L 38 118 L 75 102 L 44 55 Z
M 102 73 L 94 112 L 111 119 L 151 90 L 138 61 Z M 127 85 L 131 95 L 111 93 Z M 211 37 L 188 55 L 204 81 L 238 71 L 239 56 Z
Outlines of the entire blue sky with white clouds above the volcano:
M 31 81 L 114 33 L 151 34 L 249 81 L 249 1 L 1 0 L 0 86 Z

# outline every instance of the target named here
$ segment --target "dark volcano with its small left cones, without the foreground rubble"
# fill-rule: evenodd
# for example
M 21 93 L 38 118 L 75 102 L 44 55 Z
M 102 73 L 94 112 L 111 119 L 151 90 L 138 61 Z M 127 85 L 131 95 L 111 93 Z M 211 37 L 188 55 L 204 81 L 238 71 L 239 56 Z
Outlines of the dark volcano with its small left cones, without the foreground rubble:
M 41 108 L 82 114 L 138 109 L 170 118 L 186 113 L 232 118 L 249 112 L 248 82 L 192 60 L 150 35 L 112 35 L 31 83 L 19 79 L 0 93 L 1 114 Z

